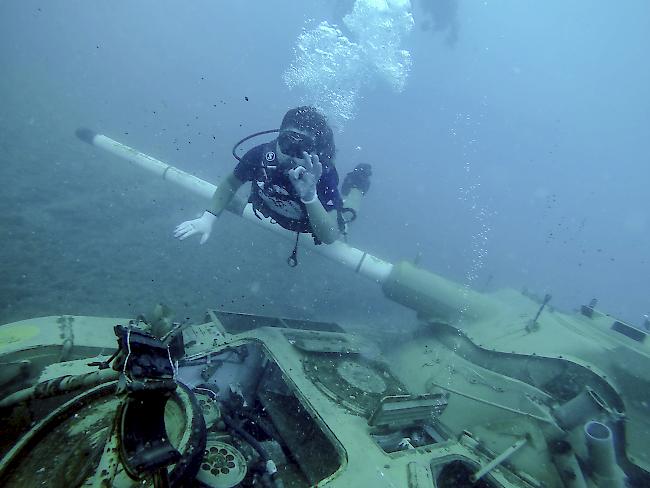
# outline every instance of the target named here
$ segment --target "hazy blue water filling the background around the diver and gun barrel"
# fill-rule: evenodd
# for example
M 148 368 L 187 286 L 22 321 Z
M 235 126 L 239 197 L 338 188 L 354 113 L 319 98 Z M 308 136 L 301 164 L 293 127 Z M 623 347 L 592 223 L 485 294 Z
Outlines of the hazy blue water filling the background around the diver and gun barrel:
M 352 3 L 3 2 L 0 322 L 158 301 L 195 319 L 219 307 L 412 320 L 319 257 L 289 269 L 290 243 L 234 217 L 203 247 L 173 240 L 205 203 L 74 137 L 91 127 L 217 181 L 233 142 L 305 99 L 283 78 L 302 29 L 327 20 L 352 37 Z M 341 174 L 374 166 L 351 243 L 564 309 L 598 297 L 639 323 L 649 7 L 451 3 L 413 2 L 403 90 L 373 72 L 337 132 Z

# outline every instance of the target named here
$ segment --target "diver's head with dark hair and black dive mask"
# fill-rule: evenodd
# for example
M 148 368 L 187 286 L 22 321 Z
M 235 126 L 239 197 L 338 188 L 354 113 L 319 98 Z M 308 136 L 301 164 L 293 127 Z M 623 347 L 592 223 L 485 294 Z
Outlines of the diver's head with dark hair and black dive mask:
M 278 159 L 287 166 L 295 165 L 303 152 L 317 154 L 323 166 L 334 159 L 334 134 L 325 116 L 314 107 L 293 108 L 284 115 L 277 146 Z

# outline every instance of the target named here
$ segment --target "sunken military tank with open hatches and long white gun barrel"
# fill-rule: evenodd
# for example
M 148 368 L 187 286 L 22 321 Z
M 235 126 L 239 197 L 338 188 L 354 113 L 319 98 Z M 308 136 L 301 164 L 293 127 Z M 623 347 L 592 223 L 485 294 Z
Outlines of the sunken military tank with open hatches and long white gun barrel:
M 595 301 L 565 313 L 549 296 L 320 248 L 377 281 L 405 322 L 417 312 L 415 333 L 224 310 L 175 322 L 162 305 L 0 326 L 0 485 L 650 486 L 644 331 Z

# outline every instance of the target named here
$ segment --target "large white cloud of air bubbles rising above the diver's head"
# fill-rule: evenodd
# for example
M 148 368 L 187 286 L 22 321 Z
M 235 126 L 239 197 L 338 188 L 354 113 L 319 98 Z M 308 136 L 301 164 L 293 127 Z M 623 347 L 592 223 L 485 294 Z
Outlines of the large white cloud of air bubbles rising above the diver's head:
M 285 84 L 300 88 L 302 102 L 322 110 L 342 130 L 355 117 L 365 85 L 379 79 L 396 92 L 404 89 L 411 55 L 400 45 L 413 28 L 409 9 L 410 2 L 356 0 L 343 18 L 353 40 L 326 21 L 303 30 Z

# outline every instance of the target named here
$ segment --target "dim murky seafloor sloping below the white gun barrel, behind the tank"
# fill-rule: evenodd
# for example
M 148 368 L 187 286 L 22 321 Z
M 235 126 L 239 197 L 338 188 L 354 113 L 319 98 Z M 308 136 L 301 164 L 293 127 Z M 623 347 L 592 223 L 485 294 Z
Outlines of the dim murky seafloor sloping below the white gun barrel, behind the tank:
M 292 242 L 232 215 L 204 246 L 175 240 L 204 201 L 79 141 L 83 115 L 65 100 L 15 86 L 3 88 L 0 115 L 0 323 L 134 317 L 159 302 L 195 322 L 216 308 L 371 329 L 414 323 L 379 285 L 306 248 L 289 268 Z

